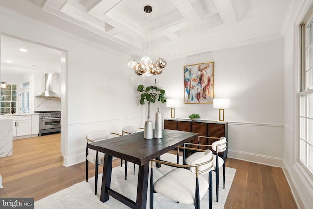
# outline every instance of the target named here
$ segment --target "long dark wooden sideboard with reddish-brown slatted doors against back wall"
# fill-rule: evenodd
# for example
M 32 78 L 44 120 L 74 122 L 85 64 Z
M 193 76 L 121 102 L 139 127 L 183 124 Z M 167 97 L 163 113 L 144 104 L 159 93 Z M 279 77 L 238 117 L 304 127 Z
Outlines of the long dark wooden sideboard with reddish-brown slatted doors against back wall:
M 164 129 L 179 130 L 198 133 L 199 136 L 210 136 L 210 137 L 226 137 L 227 139 L 227 150 L 228 152 L 228 130 L 227 122 L 216 122 L 216 121 L 191 121 L 187 119 L 164 119 Z M 217 139 L 200 139 L 200 144 L 212 144 L 212 142 L 217 141 Z M 198 144 L 198 140 L 193 140 L 192 143 Z M 197 148 L 197 146 L 193 146 Z M 202 149 L 207 149 L 207 147 L 200 146 Z

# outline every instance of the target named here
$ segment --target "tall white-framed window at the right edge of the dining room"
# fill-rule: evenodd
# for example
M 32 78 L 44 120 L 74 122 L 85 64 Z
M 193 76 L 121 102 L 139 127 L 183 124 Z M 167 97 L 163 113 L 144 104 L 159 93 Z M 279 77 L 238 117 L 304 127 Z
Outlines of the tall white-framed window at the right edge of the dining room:
M 299 162 L 313 178 L 313 19 L 301 25 Z

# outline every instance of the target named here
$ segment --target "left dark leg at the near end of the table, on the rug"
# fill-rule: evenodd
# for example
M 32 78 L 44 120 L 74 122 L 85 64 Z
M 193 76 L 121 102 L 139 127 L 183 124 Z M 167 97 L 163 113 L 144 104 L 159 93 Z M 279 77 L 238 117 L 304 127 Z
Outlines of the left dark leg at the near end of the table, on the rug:
M 103 172 L 102 172 L 102 184 L 101 184 L 101 195 L 100 201 L 106 202 L 109 200 L 109 194 L 107 193 L 107 188 L 111 185 L 111 173 L 112 173 L 112 159 L 111 155 L 105 155 Z

